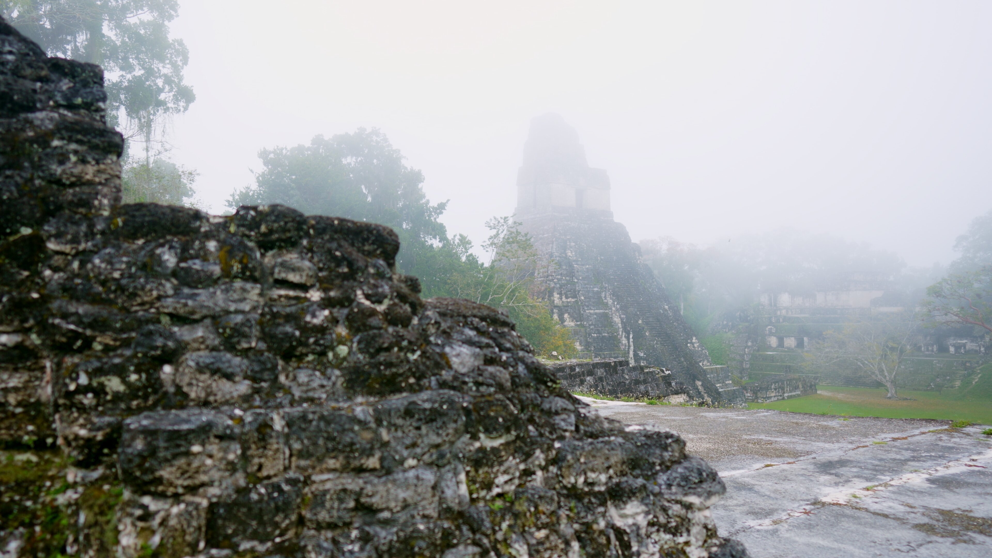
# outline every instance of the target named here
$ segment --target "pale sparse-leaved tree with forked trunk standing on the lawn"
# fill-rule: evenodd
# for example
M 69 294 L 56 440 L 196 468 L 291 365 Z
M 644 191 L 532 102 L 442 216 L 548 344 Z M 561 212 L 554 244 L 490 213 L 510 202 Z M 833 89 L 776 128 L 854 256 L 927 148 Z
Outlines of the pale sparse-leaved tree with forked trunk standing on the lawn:
M 918 326 L 916 316 L 901 314 L 849 323 L 814 342 L 806 365 L 814 370 L 859 371 L 885 385 L 888 399 L 896 399 L 896 381 L 915 347 Z

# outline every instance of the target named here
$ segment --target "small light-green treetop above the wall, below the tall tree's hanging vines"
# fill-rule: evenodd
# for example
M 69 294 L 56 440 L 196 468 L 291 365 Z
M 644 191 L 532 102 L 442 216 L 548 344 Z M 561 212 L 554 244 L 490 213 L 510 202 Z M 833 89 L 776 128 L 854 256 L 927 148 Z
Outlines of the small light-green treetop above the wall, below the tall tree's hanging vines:
M 173 206 L 192 206 L 195 191 L 192 183 L 196 171 L 171 163 L 164 159 L 153 159 L 151 163 L 128 158 L 124 162 L 121 176 L 121 194 L 125 204 L 155 202 Z

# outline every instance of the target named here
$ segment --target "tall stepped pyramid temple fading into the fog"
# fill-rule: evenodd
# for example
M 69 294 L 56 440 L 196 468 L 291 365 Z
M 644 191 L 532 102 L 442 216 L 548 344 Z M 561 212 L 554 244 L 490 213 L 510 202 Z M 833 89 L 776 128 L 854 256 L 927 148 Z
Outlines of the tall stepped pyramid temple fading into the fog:
M 710 377 L 723 370 L 712 366 L 626 227 L 613 220 L 606 171 L 589 167 L 577 132 L 558 114 L 531 121 L 515 218 L 541 254 L 539 282 L 582 357 L 662 368 L 674 390 L 665 395 L 743 403 L 740 388 Z

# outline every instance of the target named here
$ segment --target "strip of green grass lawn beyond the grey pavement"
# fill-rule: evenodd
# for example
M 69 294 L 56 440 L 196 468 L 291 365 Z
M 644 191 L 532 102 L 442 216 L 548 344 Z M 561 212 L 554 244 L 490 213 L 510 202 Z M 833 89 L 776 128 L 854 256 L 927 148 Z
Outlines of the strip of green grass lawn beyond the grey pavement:
M 867 387 L 820 385 L 819 393 L 774 403 L 748 403 L 751 409 L 775 409 L 819 415 L 855 417 L 932 418 L 968 420 L 992 424 L 992 364 L 979 368 L 980 376 L 970 385 L 958 389 L 935 391 L 900 390 L 900 397 L 912 401 L 885 398 L 886 390 Z M 975 377 L 965 380 L 970 383 Z

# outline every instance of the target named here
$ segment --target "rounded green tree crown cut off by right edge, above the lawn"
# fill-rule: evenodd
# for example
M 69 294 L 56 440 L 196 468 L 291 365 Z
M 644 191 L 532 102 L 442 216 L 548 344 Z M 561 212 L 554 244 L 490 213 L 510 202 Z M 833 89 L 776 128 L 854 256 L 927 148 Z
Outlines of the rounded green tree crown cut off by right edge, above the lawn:
M 938 323 L 977 326 L 992 333 L 992 265 L 951 273 L 930 285 L 924 308 Z

